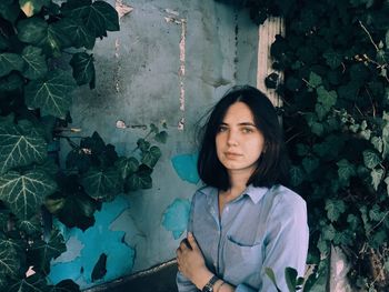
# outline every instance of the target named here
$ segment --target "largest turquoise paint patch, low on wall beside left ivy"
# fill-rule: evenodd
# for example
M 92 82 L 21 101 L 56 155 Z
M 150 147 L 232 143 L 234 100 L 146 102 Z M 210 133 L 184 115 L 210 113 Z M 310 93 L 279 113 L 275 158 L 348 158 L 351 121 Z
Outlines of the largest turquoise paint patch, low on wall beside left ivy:
M 70 238 L 76 238 L 84 246 L 80 256 L 70 262 L 53 261 L 49 280 L 57 284 L 64 279 L 72 279 L 81 289 L 94 284 L 116 280 L 131 272 L 134 261 L 134 250 L 123 242 L 123 231 L 112 231 L 110 224 L 129 208 L 129 202 L 124 197 L 109 203 L 103 203 L 101 211 L 94 213 L 96 223 L 93 226 L 82 230 L 73 228 L 67 229 L 62 223 L 56 222 L 62 231 L 67 245 Z M 71 248 L 71 246 L 67 246 Z M 107 256 L 106 275 L 92 283 L 91 274 L 101 253 Z M 83 270 L 83 272 L 81 272 Z

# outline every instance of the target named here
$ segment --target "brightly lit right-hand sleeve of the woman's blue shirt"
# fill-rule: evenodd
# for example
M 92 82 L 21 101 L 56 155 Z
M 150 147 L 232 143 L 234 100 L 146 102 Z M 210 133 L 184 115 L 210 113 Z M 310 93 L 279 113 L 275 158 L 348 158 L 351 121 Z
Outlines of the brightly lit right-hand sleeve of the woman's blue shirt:
M 302 276 L 306 270 L 308 254 L 309 229 L 307 224 L 307 205 L 300 197 L 281 195 L 273 212 L 269 217 L 269 232 L 266 239 L 265 260 L 261 270 L 262 288 L 260 292 L 277 291 L 275 284 L 266 274 L 265 269 L 271 268 L 276 275 L 278 288 L 288 291 L 285 279 L 287 266 L 297 270 Z M 238 290 L 250 291 L 250 290 Z

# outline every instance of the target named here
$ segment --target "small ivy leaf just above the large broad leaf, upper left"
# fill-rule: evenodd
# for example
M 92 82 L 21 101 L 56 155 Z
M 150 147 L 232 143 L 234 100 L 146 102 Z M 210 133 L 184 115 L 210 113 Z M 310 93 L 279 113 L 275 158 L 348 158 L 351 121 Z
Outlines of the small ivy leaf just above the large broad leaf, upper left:
M 26 78 L 34 80 L 46 75 L 48 66 L 42 54 L 42 49 L 28 46 L 23 49 L 21 56 L 27 64 L 22 72 Z

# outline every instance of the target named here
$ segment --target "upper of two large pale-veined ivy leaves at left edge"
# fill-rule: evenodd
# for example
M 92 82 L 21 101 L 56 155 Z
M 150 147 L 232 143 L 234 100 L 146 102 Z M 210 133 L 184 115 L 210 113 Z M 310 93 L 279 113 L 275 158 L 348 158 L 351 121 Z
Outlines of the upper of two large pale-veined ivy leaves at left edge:
M 21 128 L 0 123 L 0 174 L 46 158 L 47 143 L 31 124 Z

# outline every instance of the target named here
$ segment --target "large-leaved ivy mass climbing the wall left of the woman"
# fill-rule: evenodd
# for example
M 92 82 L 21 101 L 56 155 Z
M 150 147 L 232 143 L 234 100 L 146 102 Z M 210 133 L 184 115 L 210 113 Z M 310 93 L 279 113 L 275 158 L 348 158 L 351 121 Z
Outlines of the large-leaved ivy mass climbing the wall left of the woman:
M 73 141 L 72 90 L 96 85 L 97 38 L 119 30 L 104 1 L 0 1 L 0 291 L 79 291 L 71 280 L 48 284 L 50 261 L 66 251 L 50 213 L 87 229 L 101 202 L 151 188 L 166 132 L 151 125 L 131 157 L 118 157 L 94 132 Z M 71 151 L 58 165 L 58 140 Z M 32 275 L 31 275 L 32 274 Z

